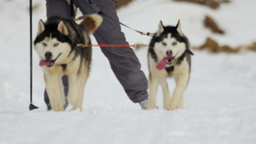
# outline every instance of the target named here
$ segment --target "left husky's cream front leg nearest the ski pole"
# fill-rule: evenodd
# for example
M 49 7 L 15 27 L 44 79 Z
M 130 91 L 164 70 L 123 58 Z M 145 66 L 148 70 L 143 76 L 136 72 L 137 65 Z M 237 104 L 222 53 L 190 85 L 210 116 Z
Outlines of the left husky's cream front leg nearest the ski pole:
M 49 103 L 54 111 L 64 111 L 64 94 L 61 95 L 61 78 L 58 74 L 44 74 L 46 91 L 49 95 Z

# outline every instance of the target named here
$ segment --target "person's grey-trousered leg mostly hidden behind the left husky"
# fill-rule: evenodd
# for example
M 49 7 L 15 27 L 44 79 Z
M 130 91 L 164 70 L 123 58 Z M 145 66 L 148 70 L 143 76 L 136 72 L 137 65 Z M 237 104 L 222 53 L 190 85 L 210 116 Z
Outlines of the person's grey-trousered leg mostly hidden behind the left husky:
M 47 18 L 50 16 L 61 16 L 62 18 L 70 18 L 70 7 L 66 0 L 47 0 L 46 1 Z M 67 76 L 62 77 L 62 84 L 64 86 L 64 94 L 67 96 L 68 93 L 68 79 Z M 49 96 L 46 89 L 44 90 L 44 102 L 47 105 L 47 109 L 50 110 Z M 68 103 L 66 100 L 65 108 Z

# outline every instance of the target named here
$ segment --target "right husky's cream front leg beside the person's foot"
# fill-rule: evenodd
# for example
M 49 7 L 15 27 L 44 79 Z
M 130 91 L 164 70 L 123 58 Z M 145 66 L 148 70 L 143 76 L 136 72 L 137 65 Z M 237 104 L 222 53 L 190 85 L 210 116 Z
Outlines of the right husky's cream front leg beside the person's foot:
M 156 95 L 160 81 L 156 78 L 148 79 L 148 109 L 154 109 L 156 107 Z

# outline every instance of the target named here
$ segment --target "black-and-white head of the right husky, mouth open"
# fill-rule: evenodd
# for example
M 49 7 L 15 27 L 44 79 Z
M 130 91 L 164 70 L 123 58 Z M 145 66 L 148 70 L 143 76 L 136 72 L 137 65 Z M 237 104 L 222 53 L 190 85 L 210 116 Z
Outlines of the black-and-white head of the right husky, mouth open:
M 193 55 L 189 50 L 189 41 L 183 35 L 181 23 L 177 26 L 164 26 L 160 21 L 158 31 L 154 36 L 154 51 L 166 59 L 167 65 L 172 65 L 174 60 L 184 54 Z

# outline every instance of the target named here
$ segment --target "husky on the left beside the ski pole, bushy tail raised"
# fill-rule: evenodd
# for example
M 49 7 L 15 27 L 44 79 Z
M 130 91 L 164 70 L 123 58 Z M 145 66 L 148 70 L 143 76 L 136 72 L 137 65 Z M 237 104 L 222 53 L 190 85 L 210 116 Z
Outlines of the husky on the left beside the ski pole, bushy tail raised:
M 54 111 L 64 111 L 66 102 L 61 81 L 63 75 L 68 78 L 67 101 L 73 110 L 82 111 L 84 85 L 89 77 L 91 51 L 90 34 L 102 23 L 98 14 L 90 14 L 78 26 L 73 20 L 54 16 L 45 23 L 39 20 L 38 35 L 34 41 L 44 72 L 44 82 L 49 95 L 50 106 Z

